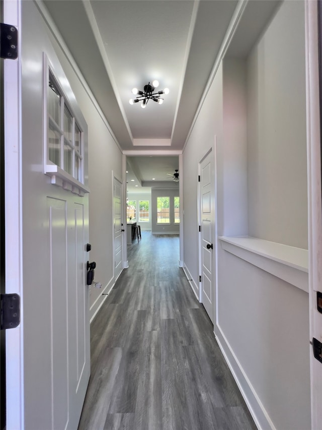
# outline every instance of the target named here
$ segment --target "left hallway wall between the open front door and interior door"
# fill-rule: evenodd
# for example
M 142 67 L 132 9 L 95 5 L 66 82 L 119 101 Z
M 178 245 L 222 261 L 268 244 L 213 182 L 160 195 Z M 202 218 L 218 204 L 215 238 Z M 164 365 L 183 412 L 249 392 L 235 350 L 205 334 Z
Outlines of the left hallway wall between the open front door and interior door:
M 49 31 L 48 31 L 49 32 Z M 90 243 L 92 251 L 89 260 L 95 261 L 95 281 L 102 283 L 102 289 L 91 288 L 90 318 L 99 308 L 104 288 L 107 292 L 114 284 L 113 273 L 113 183 L 112 171 L 122 182 L 122 153 L 109 132 L 108 124 L 100 114 L 95 99 L 89 97 L 83 78 L 76 75 L 66 55 L 49 32 L 51 42 L 64 69 L 77 102 L 87 121 L 89 131 L 89 195 Z M 103 119 L 104 118 L 104 119 Z

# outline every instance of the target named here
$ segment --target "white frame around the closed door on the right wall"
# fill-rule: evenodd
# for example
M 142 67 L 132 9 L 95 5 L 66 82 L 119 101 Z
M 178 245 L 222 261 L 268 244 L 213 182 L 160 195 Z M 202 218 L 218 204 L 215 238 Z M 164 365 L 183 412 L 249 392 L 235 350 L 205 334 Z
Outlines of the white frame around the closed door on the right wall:
M 212 198 L 214 202 L 214 213 L 213 213 L 213 231 L 212 231 L 212 237 L 213 237 L 213 253 L 212 253 L 212 267 L 214 270 L 213 278 L 212 278 L 212 297 L 213 297 L 213 325 L 217 324 L 217 306 L 218 306 L 218 233 L 217 233 L 217 137 L 214 136 L 214 143 L 212 147 L 209 148 L 208 151 L 204 153 L 204 155 L 201 157 L 200 161 L 198 162 L 198 178 L 201 174 L 201 163 L 202 161 L 210 154 L 212 153 L 213 156 L 213 188 L 212 188 Z M 197 220 L 198 220 L 198 226 L 201 226 L 201 185 L 200 181 L 198 179 L 198 187 L 197 187 Z M 199 268 L 199 274 L 202 274 L 202 236 L 201 231 L 198 233 L 198 268 Z M 199 301 L 202 303 L 202 295 L 201 295 L 201 288 L 202 288 L 202 281 L 199 282 Z

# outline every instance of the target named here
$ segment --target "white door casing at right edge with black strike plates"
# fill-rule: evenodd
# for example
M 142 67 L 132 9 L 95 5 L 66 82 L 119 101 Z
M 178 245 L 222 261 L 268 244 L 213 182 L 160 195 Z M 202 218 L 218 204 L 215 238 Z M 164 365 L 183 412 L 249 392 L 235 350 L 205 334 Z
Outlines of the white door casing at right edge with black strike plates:
M 317 2 L 305 2 L 306 52 L 306 130 L 308 182 L 308 279 L 309 331 L 322 342 L 322 314 L 317 311 L 317 291 L 322 292 L 322 198 L 321 141 L 318 70 L 318 9 Z M 321 43 L 321 40 L 320 40 Z M 322 363 L 314 358 L 310 346 L 311 428 L 321 428 L 322 422 Z

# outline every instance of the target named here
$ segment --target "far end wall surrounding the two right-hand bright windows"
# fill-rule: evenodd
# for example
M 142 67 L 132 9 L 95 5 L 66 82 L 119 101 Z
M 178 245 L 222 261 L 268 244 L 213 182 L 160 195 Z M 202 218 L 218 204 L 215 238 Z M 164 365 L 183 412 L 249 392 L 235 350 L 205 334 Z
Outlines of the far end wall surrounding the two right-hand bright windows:
M 174 223 L 174 198 L 179 196 L 179 188 L 151 190 L 151 233 L 152 234 L 179 234 L 180 224 Z M 170 197 L 170 224 L 157 224 L 157 197 Z

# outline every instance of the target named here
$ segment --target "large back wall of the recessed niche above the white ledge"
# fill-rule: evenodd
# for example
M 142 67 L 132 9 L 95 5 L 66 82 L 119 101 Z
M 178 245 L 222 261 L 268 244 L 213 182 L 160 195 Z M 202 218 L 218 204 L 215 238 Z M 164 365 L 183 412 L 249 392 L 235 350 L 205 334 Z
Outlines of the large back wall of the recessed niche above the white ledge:
M 248 185 L 250 235 L 307 249 L 303 16 L 285 2 L 248 58 Z

